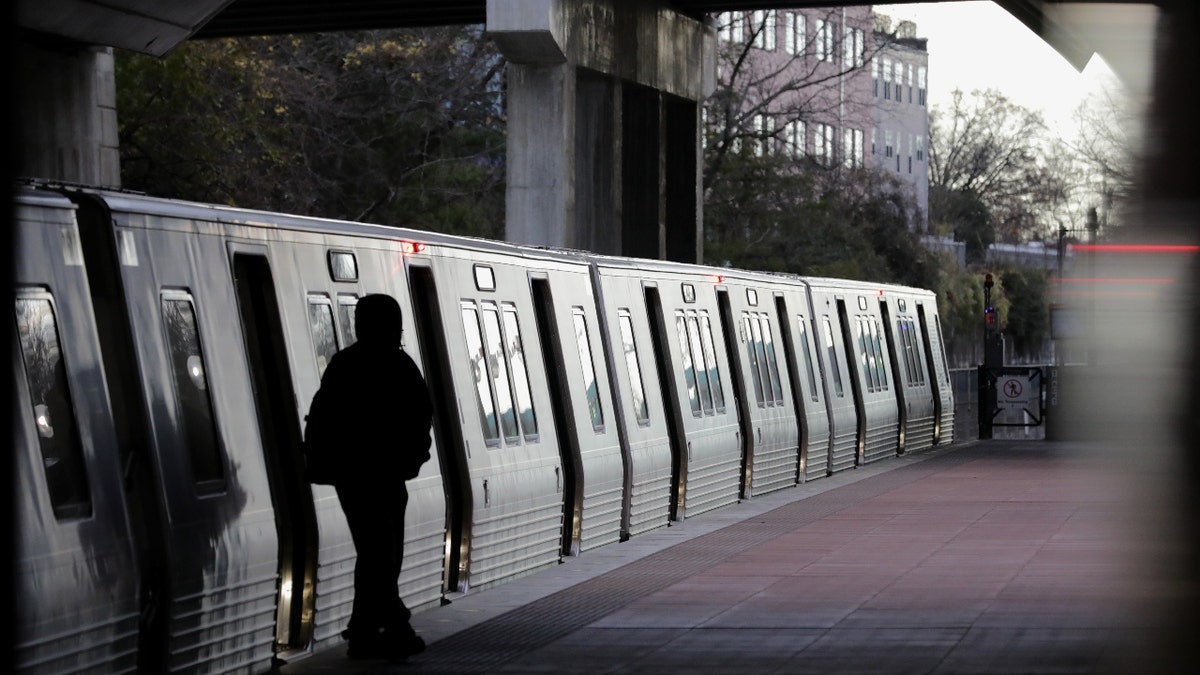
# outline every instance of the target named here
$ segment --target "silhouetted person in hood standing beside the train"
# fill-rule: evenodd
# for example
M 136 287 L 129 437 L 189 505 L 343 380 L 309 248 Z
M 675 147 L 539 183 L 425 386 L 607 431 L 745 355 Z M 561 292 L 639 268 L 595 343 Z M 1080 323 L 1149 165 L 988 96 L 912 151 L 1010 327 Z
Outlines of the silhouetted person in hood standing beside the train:
M 342 633 L 349 657 L 395 659 L 425 650 L 396 585 L 404 560 L 404 480 L 430 459 L 432 406 L 421 371 L 401 350 L 396 300 L 364 297 L 354 325 L 358 342 L 330 359 L 308 410 L 308 479 L 337 489 L 358 554 L 354 608 Z

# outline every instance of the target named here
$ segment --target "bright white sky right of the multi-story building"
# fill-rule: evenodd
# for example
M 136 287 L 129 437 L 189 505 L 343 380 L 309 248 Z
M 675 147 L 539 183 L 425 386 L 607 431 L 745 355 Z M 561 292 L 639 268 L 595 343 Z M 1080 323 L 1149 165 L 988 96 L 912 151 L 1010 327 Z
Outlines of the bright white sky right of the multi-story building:
M 1103 58 L 1075 70 L 1045 40 L 991 1 L 875 5 L 890 16 L 917 24 L 928 38 L 930 106 L 946 107 L 961 89 L 997 89 L 1013 102 L 1040 110 L 1046 123 L 1064 132 L 1070 113 L 1096 88 L 1112 85 L 1116 76 Z

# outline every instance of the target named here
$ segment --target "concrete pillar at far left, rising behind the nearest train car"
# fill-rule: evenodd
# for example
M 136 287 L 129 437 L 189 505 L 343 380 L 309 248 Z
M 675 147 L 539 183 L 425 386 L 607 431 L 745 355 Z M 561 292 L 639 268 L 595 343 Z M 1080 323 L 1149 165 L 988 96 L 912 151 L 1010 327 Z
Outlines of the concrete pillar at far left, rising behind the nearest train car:
M 113 50 L 18 40 L 17 175 L 120 187 Z

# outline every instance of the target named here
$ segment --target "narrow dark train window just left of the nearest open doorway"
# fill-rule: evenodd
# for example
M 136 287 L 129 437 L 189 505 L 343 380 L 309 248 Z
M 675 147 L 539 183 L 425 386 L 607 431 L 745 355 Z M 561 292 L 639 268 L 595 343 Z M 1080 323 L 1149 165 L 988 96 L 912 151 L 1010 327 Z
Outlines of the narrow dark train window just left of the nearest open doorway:
M 192 462 L 192 478 L 204 491 L 216 491 L 224 480 L 224 465 L 217 444 L 212 396 L 209 393 L 200 333 L 191 295 L 164 293 L 162 317 L 179 400 L 179 419 Z

